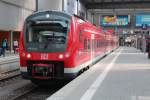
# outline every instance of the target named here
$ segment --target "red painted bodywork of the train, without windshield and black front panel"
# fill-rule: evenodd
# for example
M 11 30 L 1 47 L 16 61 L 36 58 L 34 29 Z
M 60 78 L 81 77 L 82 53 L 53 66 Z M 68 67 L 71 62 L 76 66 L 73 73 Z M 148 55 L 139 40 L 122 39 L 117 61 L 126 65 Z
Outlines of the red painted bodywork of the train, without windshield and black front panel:
M 107 51 L 113 50 L 118 47 L 118 38 L 114 36 L 114 31 L 106 31 L 99 27 L 95 27 L 90 22 L 83 21 L 80 23 L 79 18 L 72 16 L 70 32 L 68 34 L 68 44 L 65 52 L 47 53 L 48 59 L 45 61 L 62 61 L 64 62 L 64 68 L 75 68 L 85 62 L 91 61 L 93 58 L 104 55 Z M 82 35 L 80 36 L 80 33 Z M 28 54 L 25 49 L 24 43 L 24 32 L 20 36 L 20 65 L 27 65 L 26 61 L 43 61 L 41 59 L 40 52 L 30 52 L 31 58 L 28 59 L 23 54 Z M 94 35 L 93 38 L 92 34 Z M 107 36 L 110 38 L 108 39 Z M 86 43 L 85 43 L 86 41 Z M 94 44 L 92 43 L 94 42 Z M 86 45 L 84 45 L 86 44 Z M 86 48 L 86 49 L 85 49 Z M 93 52 L 92 52 L 93 50 Z M 69 53 L 69 57 L 65 57 L 65 54 Z M 59 59 L 59 55 L 62 54 L 64 57 Z M 92 55 L 91 55 L 92 54 Z M 40 77 L 41 78 L 41 77 Z M 44 79 L 44 78 L 43 78 Z

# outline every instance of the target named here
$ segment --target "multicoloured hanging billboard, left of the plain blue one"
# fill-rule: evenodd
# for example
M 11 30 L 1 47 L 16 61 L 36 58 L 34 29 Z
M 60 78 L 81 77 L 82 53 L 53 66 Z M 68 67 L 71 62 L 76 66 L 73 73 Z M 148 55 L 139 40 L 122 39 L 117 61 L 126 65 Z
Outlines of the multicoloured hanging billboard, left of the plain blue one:
M 127 26 L 130 22 L 129 15 L 105 15 L 101 16 L 100 24 L 102 26 Z

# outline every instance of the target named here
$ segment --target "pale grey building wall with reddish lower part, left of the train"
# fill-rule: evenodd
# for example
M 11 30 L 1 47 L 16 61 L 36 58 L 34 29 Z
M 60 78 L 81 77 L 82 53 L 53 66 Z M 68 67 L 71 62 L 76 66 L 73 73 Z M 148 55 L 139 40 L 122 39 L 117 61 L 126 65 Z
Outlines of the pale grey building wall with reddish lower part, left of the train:
M 0 0 L 0 45 L 8 40 L 9 50 L 13 49 L 13 40 L 19 41 L 25 18 L 36 8 L 36 0 Z

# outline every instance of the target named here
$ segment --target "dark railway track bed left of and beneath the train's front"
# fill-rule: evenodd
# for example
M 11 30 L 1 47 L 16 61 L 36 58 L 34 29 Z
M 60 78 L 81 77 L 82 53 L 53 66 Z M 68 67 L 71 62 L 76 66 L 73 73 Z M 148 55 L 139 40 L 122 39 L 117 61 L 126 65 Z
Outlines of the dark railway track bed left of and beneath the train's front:
M 19 69 L 0 74 L 0 100 L 44 100 L 66 84 L 39 87 L 22 79 Z

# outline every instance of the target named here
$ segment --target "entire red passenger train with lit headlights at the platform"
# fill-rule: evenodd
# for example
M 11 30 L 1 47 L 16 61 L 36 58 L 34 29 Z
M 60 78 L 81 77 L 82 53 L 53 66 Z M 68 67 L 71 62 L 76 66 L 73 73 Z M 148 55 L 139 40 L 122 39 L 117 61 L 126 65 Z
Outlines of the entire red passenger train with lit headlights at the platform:
M 112 32 L 75 15 L 43 11 L 29 16 L 20 36 L 20 65 L 24 78 L 65 80 L 118 47 Z

